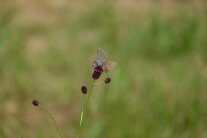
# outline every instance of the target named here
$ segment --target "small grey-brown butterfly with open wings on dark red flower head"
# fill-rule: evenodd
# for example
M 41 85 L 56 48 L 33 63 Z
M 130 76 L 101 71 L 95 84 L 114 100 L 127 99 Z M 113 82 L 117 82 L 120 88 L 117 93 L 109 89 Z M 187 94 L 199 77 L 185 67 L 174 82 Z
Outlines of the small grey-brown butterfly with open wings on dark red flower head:
M 95 70 L 99 70 L 102 72 L 108 72 L 114 69 L 117 66 L 117 62 L 115 61 L 107 61 L 107 54 L 101 48 L 97 50 L 97 57 L 94 60 L 92 67 Z

